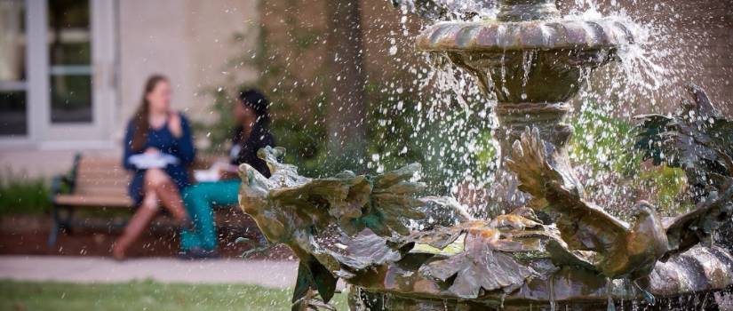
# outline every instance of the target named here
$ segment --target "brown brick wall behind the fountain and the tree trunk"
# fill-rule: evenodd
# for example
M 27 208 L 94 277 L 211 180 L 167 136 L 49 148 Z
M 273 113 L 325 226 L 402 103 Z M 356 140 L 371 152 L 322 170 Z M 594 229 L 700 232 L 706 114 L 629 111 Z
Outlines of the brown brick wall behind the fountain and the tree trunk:
M 327 57 L 328 49 L 328 43 L 324 41 L 328 31 L 324 1 L 271 0 L 261 7 L 264 17 L 262 23 L 267 29 L 266 40 L 277 47 L 279 58 L 290 57 L 285 71 L 296 77 L 281 87 L 288 92 L 308 95 L 301 96 L 302 99 L 312 98 L 315 90 L 323 90 L 324 83 L 334 78 L 328 76 L 323 59 Z M 577 2 L 582 1 L 559 0 L 558 4 L 567 12 Z M 650 46 L 649 51 L 668 53 L 659 57 L 658 63 L 668 68 L 669 74 L 657 90 L 649 94 L 635 92 L 625 99 L 610 94 L 603 100 L 617 101 L 628 107 L 629 111 L 625 115 L 666 113 L 679 106 L 679 100 L 684 95 L 684 84 L 694 82 L 705 88 L 721 110 L 729 116 L 733 115 L 733 0 L 597 2 L 602 12 L 626 11 L 633 20 L 643 25 L 665 28 L 662 32 L 665 37 L 655 38 L 660 44 Z M 611 2 L 617 4 L 611 5 Z M 406 76 L 411 68 L 410 63 L 420 61 L 412 48 L 413 37 L 419 29 L 418 21 L 408 20 L 403 27 L 400 22 L 402 15 L 386 0 L 363 0 L 362 7 L 368 79 L 378 83 Z M 403 33 L 404 29 L 407 29 L 407 33 Z M 297 52 L 295 50 L 302 46 L 293 42 L 303 39 L 299 34 L 317 36 L 318 40 L 307 47 L 307 52 Z M 395 55 L 389 53 L 393 43 L 398 47 Z M 596 87 L 601 88 L 610 84 L 610 79 L 619 78 L 613 73 L 597 76 L 597 79 L 605 79 L 594 82 Z M 293 88 L 291 85 L 294 81 L 298 81 L 299 86 Z M 312 92 L 304 91 L 311 84 L 315 85 Z M 283 89 L 279 91 L 283 92 Z

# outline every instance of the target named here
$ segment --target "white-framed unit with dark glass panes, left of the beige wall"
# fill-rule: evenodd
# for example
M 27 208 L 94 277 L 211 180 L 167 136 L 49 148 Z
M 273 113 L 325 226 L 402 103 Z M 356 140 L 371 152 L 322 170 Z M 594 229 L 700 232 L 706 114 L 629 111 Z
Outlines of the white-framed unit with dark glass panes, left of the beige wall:
M 0 0 L 0 145 L 114 145 L 116 1 Z

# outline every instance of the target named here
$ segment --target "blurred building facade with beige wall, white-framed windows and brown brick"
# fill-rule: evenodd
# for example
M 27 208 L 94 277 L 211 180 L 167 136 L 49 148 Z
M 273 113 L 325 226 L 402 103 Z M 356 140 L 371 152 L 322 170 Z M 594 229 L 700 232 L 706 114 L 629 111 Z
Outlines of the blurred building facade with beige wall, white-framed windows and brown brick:
M 333 0 L 0 0 L 0 170 L 49 176 L 68 169 L 77 152 L 119 155 L 124 125 L 154 73 L 171 78 L 174 108 L 206 121 L 213 116 L 203 89 L 254 82 L 255 68 L 242 63 L 232 72 L 227 63 L 263 43 L 292 74 L 278 89 L 309 94 L 293 85 L 332 78 L 323 40 L 327 1 Z M 650 49 L 665 52 L 674 83 L 655 95 L 610 100 L 634 114 L 666 113 L 679 107 L 683 84 L 695 82 L 733 116 L 733 0 L 558 0 L 563 11 L 578 2 L 666 28 Z M 405 34 L 417 33 L 418 23 L 402 24 L 386 0 L 363 0 L 362 12 L 367 78 L 405 72 L 394 59 L 414 58 Z M 235 34 L 244 40 L 234 44 Z M 393 39 L 399 52 L 386 57 Z M 649 106 L 650 96 L 658 97 L 657 106 Z M 304 104 L 289 103 L 295 114 Z

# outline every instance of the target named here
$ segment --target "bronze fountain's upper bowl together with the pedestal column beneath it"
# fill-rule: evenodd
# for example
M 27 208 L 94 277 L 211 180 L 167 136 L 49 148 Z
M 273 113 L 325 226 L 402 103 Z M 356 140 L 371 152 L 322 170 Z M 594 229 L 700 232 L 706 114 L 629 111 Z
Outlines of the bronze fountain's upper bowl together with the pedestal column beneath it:
M 615 20 L 563 20 L 555 0 L 499 0 L 498 5 L 497 20 L 427 28 L 418 36 L 418 49 L 448 55 L 476 77 L 483 92 L 494 94 L 501 159 L 490 205 L 508 211 L 528 198 L 504 165 L 514 141 L 525 128 L 536 127 L 554 148 L 549 160 L 570 165 L 568 101 L 584 76 L 613 60 L 616 47 L 633 37 Z

